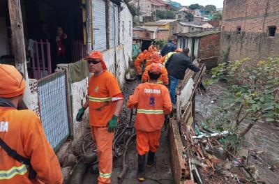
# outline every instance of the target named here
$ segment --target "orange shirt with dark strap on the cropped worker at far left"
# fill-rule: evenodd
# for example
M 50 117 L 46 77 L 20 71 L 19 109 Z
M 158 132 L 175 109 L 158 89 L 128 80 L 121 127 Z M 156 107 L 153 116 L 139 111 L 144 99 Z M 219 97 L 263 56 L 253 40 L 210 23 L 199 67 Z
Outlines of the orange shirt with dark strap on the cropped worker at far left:
M 0 107 L 0 137 L 31 161 L 37 178 L 30 181 L 25 164 L 11 158 L 0 146 L 0 183 L 63 183 L 61 168 L 34 112 Z

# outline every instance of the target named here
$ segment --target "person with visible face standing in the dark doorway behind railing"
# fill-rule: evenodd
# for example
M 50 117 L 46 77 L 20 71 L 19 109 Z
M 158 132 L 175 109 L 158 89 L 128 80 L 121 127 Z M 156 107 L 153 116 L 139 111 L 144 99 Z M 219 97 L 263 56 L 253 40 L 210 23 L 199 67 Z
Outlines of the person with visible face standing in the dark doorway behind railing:
M 57 27 L 57 32 L 56 32 L 56 59 L 55 59 L 55 64 L 52 66 L 52 69 L 56 68 L 57 64 L 60 63 L 67 63 L 66 59 L 66 39 L 68 36 L 66 33 L 64 33 L 63 29 L 61 26 Z

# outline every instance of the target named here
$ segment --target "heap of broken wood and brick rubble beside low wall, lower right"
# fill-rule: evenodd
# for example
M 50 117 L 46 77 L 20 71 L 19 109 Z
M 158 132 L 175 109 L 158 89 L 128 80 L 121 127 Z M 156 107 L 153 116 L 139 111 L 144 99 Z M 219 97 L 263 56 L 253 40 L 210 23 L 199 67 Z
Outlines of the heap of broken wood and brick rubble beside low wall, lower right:
M 189 178 L 197 183 L 264 183 L 256 179 L 255 166 L 248 166 L 248 149 L 236 156 L 220 144 L 228 134 L 202 132 L 195 123 L 187 125 L 183 141 Z

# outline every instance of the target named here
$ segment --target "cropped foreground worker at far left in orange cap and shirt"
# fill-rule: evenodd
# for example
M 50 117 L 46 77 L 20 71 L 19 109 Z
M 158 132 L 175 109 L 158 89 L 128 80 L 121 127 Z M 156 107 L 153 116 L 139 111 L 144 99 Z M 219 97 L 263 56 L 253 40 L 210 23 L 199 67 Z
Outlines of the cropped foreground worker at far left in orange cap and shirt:
M 63 183 L 40 119 L 17 110 L 25 86 L 14 66 L 0 64 L 0 183 Z

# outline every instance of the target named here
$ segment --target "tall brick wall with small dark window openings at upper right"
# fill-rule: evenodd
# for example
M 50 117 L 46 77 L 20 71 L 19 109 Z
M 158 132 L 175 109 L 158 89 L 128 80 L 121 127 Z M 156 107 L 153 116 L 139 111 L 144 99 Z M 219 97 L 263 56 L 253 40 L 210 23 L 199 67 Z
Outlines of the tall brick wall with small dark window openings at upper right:
M 241 33 L 236 33 L 240 26 Z M 276 35 L 268 36 L 268 27 L 276 26 Z M 225 0 L 221 50 L 229 59 L 250 57 L 256 61 L 279 53 L 278 0 Z

